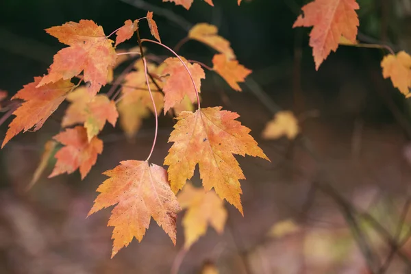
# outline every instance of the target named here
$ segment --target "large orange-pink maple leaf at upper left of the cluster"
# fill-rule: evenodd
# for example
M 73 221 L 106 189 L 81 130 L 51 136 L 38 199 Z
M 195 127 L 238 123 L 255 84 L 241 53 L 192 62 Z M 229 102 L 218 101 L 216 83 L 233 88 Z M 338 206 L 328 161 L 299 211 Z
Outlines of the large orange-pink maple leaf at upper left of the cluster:
M 71 79 L 84 71 L 84 80 L 90 82 L 90 93 L 97 94 L 101 86 L 107 84 L 117 57 L 113 41 L 105 36 L 103 28 L 91 20 L 80 20 L 51 27 L 46 32 L 70 47 L 54 55 L 49 74 L 38 86 Z

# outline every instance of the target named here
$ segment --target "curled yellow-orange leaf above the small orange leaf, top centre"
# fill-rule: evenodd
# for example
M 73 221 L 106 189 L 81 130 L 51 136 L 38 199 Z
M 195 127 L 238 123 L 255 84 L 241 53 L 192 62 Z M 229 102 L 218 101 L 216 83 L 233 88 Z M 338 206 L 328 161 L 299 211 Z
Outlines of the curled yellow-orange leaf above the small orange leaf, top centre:
M 217 34 L 218 31 L 219 29 L 217 29 L 214 25 L 210 25 L 208 23 L 198 23 L 190 29 L 190 32 L 188 32 L 188 38 L 203 42 L 216 51 L 225 54 L 229 60 L 236 59 L 236 55 L 234 55 L 234 51 L 230 47 L 229 42 L 219 36 Z

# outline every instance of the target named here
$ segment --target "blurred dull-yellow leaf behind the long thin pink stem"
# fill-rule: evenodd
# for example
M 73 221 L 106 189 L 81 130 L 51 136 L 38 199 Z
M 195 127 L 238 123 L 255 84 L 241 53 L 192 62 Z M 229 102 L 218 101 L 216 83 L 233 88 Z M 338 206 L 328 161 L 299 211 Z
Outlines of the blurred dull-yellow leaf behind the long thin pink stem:
M 138 63 L 140 64 L 142 62 Z M 156 69 L 154 64 L 148 63 L 147 66 L 149 67 L 149 71 L 155 71 Z M 123 99 L 121 99 L 118 104 L 120 125 L 129 139 L 136 136 L 138 129 L 141 127 L 142 119 L 147 118 L 150 112 L 154 113 L 144 70 L 140 65 L 137 65 L 137 69 L 138 71 L 133 71 L 125 76 L 125 83 L 121 90 Z M 162 92 L 157 90 L 151 80 L 149 81 L 155 108 L 157 114 L 160 114 L 164 105 L 164 97 Z M 158 84 L 162 85 L 162 82 L 158 82 Z

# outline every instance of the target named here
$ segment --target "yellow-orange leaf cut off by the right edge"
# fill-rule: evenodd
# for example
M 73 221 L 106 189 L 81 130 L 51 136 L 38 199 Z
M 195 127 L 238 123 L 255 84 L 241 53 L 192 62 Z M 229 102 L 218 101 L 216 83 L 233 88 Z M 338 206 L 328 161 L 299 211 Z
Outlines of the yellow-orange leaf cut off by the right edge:
M 406 97 L 410 97 L 411 87 L 411 56 L 405 51 L 397 55 L 388 54 L 381 62 L 384 79 L 391 78 L 393 86 Z

